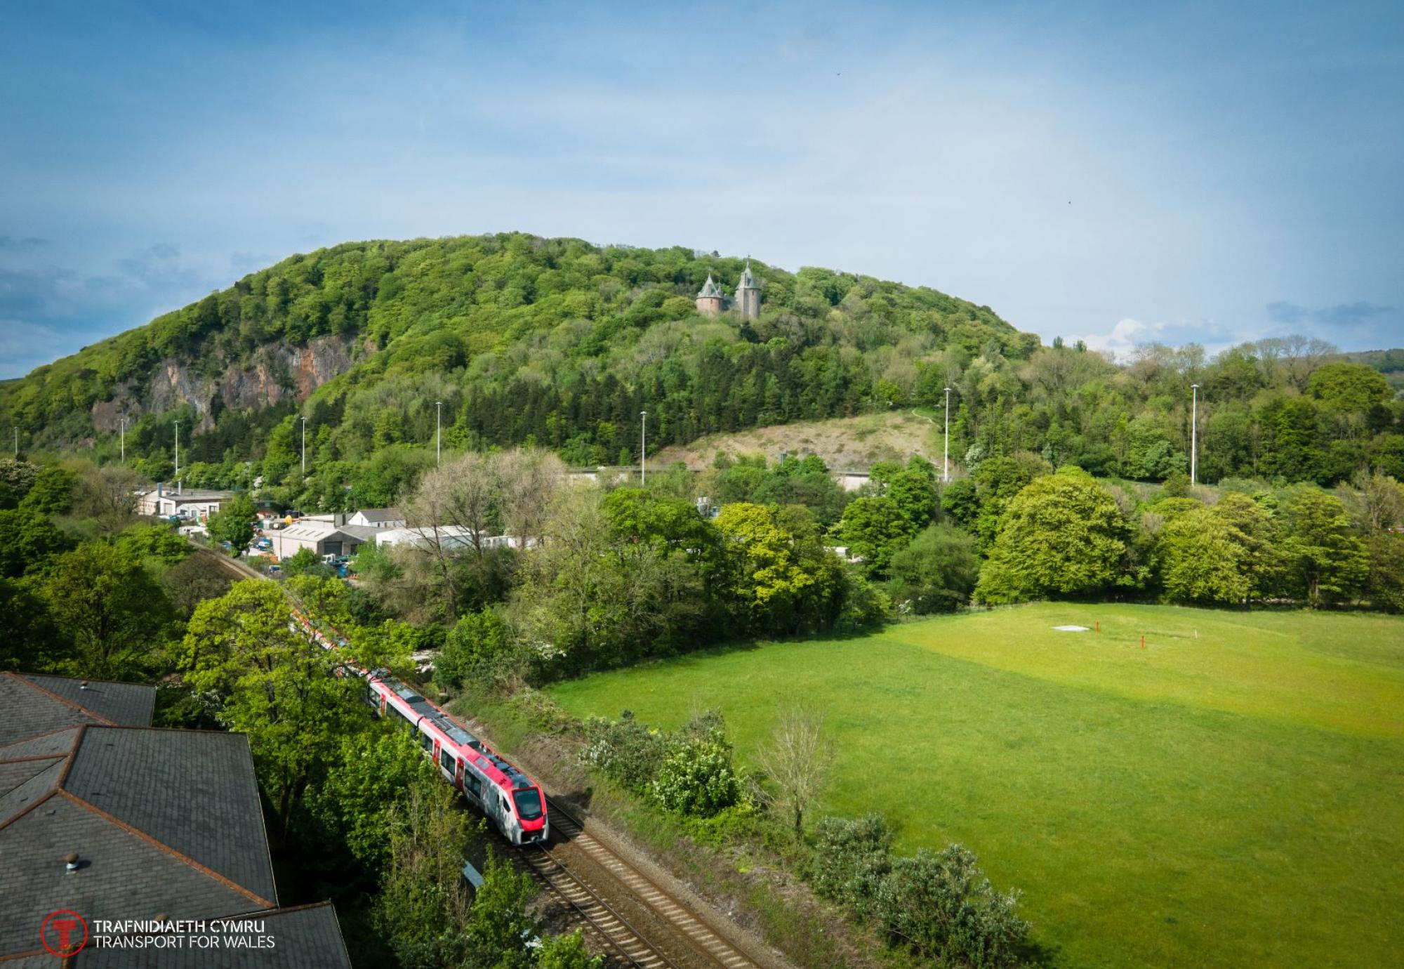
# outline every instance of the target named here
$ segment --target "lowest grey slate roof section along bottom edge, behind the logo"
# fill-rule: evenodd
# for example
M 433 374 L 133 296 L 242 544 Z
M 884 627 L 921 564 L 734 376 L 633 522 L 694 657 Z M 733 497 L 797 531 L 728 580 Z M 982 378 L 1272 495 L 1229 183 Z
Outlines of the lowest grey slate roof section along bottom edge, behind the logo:
M 170 913 L 168 918 L 174 918 Z M 263 920 L 264 935 L 274 940 L 271 949 L 119 949 L 86 948 L 67 962 L 46 952 L 31 952 L 11 966 L 29 969 L 350 969 L 351 958 L 341 940 L 336 909 L 330 902 L 240 913 L 237 918 Z

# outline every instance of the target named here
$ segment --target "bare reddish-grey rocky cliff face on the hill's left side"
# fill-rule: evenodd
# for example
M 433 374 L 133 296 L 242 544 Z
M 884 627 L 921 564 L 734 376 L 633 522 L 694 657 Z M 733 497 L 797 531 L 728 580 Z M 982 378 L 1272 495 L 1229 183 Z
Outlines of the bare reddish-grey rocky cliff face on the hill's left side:
M 93 427 L 115 431 L 119 418 L 159 413 L 190 404 L 201 421 L 195 430 L 213 427 L 211 406 L 218 397 L 227 410 L 272 407 L 300 402 L 338 374 L 351 369 L 355 341 L 351 337 L 324 336 L 305 345 L 284 343 L 260 347 L 244 367 L 232 367 L 219 378 L 198 372 L 190 361 L 167 358 L 145 386 L 126 385 L 111 400 L 93 404 Z

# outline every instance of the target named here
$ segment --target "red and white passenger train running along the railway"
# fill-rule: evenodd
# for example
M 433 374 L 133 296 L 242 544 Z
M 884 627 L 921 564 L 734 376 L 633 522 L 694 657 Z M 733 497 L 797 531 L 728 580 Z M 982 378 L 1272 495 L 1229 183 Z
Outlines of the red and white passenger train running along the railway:
M 295 609 L 293 617 L 302 631 L 324 649 L 334 650 L 344 643 L 323 633 L 302 612 Z M 343 668 L 365 680 L 366 702 L 396 726 L 413 732 L 439 775 L 477 806 L 507 840 L 512 844 L 546 844 L 550 837 L 546 796 L 535 781 L 385 670 L 365 670 L 354 663 L 345 663 Z

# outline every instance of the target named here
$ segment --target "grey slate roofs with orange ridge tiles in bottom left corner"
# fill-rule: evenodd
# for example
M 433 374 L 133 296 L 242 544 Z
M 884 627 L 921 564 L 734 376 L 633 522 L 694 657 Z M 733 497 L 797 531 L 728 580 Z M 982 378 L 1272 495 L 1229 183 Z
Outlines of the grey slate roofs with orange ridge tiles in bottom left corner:
M 121 726 L 149 720 L 154 691 L 80 683 L 0 674 L 0 969 L 60 965 L 34 948 L 56 909 L 88 921 L 257 913 L 277 940 L 84 949 L 69 966 L 348 969 L 330 903 L 277 909 L 249 739 Z

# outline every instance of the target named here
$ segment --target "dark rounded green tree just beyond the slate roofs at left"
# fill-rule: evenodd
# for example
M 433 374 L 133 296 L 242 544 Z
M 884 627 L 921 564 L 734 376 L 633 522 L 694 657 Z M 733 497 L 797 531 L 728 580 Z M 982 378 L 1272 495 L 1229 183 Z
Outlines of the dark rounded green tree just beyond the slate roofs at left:
M 107 542 L 84 542 L 60 555 L 42 594 L 74 645 L 76 673 L 94 680 L 145 680 L 176 618 L 140 560 Z

